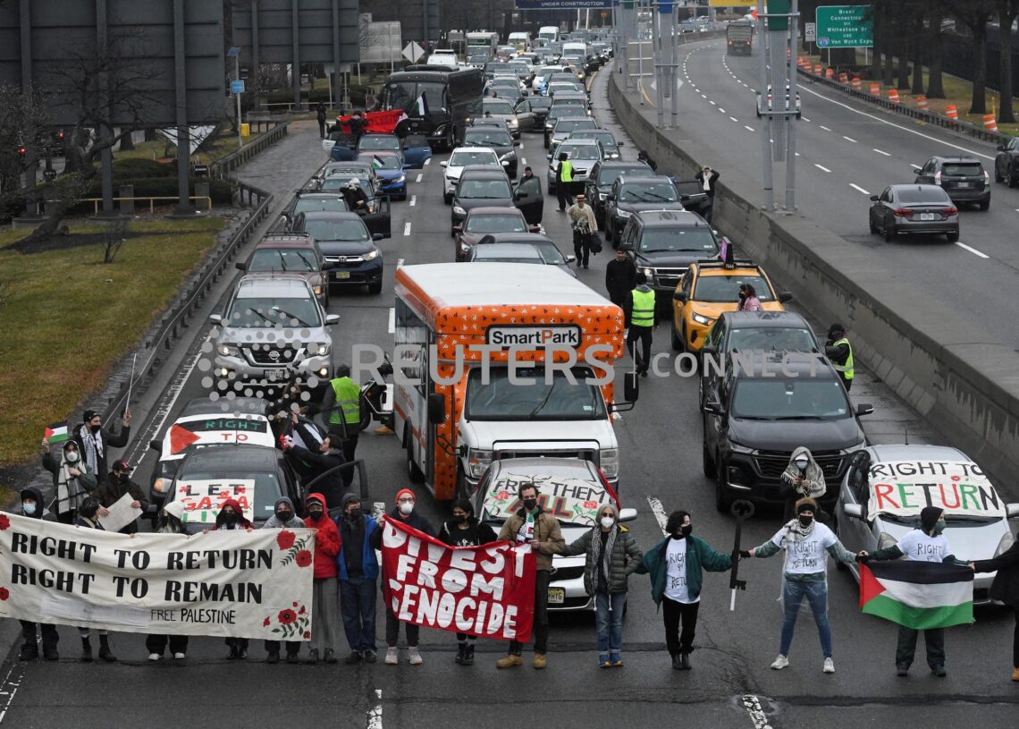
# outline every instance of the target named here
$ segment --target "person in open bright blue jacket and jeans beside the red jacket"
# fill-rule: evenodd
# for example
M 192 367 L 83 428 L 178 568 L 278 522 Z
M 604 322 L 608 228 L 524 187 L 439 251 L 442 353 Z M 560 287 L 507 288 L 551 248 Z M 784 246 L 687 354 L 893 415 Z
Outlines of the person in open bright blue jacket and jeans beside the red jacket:
M 375 663 L 375 600 L 379 563 L 371 538 L 378 522 L 361 511 L 361 497 L 343 497 L 343 511 L 337 517 L 339 553 L 336 574 L 339 578 L 339 610 L 343 616 L 343 631 L 351 644 L 345 663 Z

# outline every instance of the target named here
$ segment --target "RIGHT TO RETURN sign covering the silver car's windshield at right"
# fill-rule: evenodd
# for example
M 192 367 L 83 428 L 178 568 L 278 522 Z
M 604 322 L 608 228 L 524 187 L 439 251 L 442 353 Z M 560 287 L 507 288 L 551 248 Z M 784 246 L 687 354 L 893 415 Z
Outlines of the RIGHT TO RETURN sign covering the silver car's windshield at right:
M 1004 517 L 1005 503 L 975 463 L 892 461 L 870 466 L 867 516 L 919 516 L 924 507 L 946 516 Z

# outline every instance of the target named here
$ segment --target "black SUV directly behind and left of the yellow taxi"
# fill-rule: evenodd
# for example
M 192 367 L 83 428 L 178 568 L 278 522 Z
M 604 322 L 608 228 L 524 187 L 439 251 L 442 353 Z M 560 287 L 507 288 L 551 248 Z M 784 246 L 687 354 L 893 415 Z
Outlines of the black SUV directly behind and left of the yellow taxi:
M 621 237 L 621 245 L 634 253 L 637 270 L 654 289 L 655 306 L 668 312 L 673 310 L 673 293 L 690 264 L 714 258 L 721 250 L 710 223 L 676 205 L 679 209 L 635 213 Z

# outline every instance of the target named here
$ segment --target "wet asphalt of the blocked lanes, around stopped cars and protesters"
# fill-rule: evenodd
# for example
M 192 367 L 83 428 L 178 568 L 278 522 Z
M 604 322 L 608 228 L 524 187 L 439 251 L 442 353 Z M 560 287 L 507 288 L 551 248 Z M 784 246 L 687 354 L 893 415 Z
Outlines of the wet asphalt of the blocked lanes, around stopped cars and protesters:
M 607 109 L 604 81 L 599 74 L 594 82 L 595 113 L 630 142 Z M 746 104 L 751 117 L 752 102 L 750 98 Z M 273 185 L 281 192 L 292 189 L 324 161 L 317 149 L 314 131 L 297 131 L 242 170 L 242 177 L 259 178 L 257 184 Z M 627 158 L 636 153 L 632 142 L 624 149 Z M 525 133 L 520 154 L 521 169 L 531 164 L 543 176 L 546 162 L 540 136 Z M 710 154 L 722 159 L 715 150 Z M 337 360 L 347 358 L 355 344 L 392 347 L 389 311 L 397 265 L 453 259 L 449 208 L 442 203 L 438 165 L 444 157 L 437 155 L 420 173 L 412 172 L 408 201 L 393 203 L 394 235 L 381 243 L 386 264 L 382 293 L 371 296 L 352 291 L 332 297 L 330 313 L 342 317 L 333 332 Z M 569 252 L 572 237 L 553 200 L 546 200 L 544 222 L 548 235 L 564 253 Z M 594 257 L 589 270 L 578 271 L 580 279 L 603 291 L 609 257 L 610 249 Z M 197 332 L 189 354 L 201 351 L 206 334 L 207 329 Z M 655 334 L 654 351 L 669 352 L 665 326 Z M 160 398 L 146 404 L 145 412 L 137 408 L 136 418 L 146 424 L 157 418 L 172 422 L 184 402 L 205 394 L 195 357 L 181 361 L 183 365 Z M 853 399 L 863 402 L 867 397 L 878 403 L 877 417 L 867 424 L 875 439 L 894 441 L 900 427 L 917 433 L 914 441 L 923 433 L 929 436 L 916 415 L 898 404 L 880 383 L 872 378 L 864 381 L 865 387 L 854 387 Z M 641 385 L 637 408 L 615 423 L 622 453 L 621 496 L 625 506 L 638 511 L 638 520 L 630 525 L 638 542 L 650 549 L 661 538 L 665 513 L 684 508 L 693 514 L 696 534 L 720 552 L 731 551 L 733 520 L 715 511 L 712 485 L 701 475 L 697 382 L 648 378 Z M 145 425 L 140 431 L 146 431 Z M 138 445 L 144 447 L 147 436 L 136 437 L 125 452 L 141 457 L 144 448 Z M 358 455 L 368 464 L 371 500 L 391 507 L 396 490 L 411 485 L 399 444 L 369 429 L 361 438 Z M 136 473 L 140 482 L 148 483 L 152 460 L 146 455 L 141 462 Z M 446 518 L 445 505 L 417 490 L 421 513 L 434 522 Z M 755 517 L 744 528 L 744 544 L 763 542 L 780 525 L 779 515 Z M 60 662 L 19 665 L 8 658 L 5 668 L 10 673 L 0 686 L 0 729 L 8 725 L 18 729 L 105 728 L 139 721 L 155 727 L 229 728 L 254 723 L 373 729 L 494 728 L 519 722 L 578 728 L 626 723 L 743 729 L 1014 724 L 1019 693 L 1007 673 L 1011 616 L 998 610 L 979 611 L 974 625 L 950 630 L 947 678 L 929 675 L 922 656 L 910 677 L 896 678 L 895 626 L 861 615 L 855 582 L 834 567 L 828 612 L 837 672 L 821 673 L 822 657 L 808 613 L 800 618 L 790 655 L 792 665 L 771 671 L 768 666 L 777 649 L 782 617 L 776 602 L 781 568 L 781 558 L 744 563 L 741 577 L 748 580 L 748 588 L 738 594 L 735 612 L 729 611 L 728 574 L 705 576 L 694 668 L 689 672 L 671 668 L 661 618 L 650 600 L 647 578 L 640 576 L 630 582 L 623 650 L 626 667 L 610 670 L 596 667 L 590 614 L 553 617 L 549 665 L 541 672 L 531 668 L 529 650 L 524 666 L 497 671 L 495 660 L 505 647 L 484 640 L 479 641 L 475 666 L 457 666 L 454 636 L 431 630 L 422 631 L 422 666 L 410 666 L 406 652 L 396 667 L 381 662 L 354 667 L 270 666 L 264 663 L 259 641 L 252 641 L 247 662 L 228 662 L 222 641 L 213 638 L 193 639 L 182 663 L 164 659 L 151 664 L 146 660 L 144 636 L 128 633 L 113 635 L 118 663 L 85 665 L 77 661 L 76 631 L 63 628 Z M 381 635 L 381 606 L 378 616 Z

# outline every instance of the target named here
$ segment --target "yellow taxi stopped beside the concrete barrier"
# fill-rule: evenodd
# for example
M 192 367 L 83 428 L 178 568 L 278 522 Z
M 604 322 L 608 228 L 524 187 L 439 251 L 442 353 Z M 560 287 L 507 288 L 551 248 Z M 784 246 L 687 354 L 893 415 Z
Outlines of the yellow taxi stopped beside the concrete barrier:
M 785 311 L 792 294 L 776 292 L 764 270 L 753 261 L 696 261 L 690 264 L 673 294 L 673 349 L 700 352 L 708 330 L 726 311 L 740 306 L 740 287 L 754 288 L 764 311 Z

